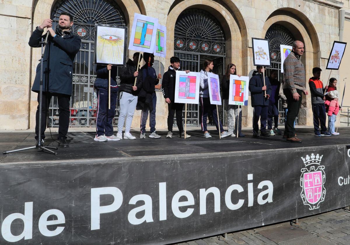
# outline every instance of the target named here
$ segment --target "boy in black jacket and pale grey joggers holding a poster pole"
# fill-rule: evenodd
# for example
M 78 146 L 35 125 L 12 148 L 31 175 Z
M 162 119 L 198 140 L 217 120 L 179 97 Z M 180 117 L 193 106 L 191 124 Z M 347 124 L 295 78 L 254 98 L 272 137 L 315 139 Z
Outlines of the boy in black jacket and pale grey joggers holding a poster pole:
M 133 60 L 128 59 L 126 62 L 126 67 L 122 67 L 120 69 L 120 96 L 119 96 L 119 103 L 120 103 L 120 111 L 119 111 L 119 118 L 118 118 L 118 133 L 117 137 L 120 139 L 123 139 L 122 133 L 123 133 L 123 126 L 124 121 L 126 118 L 125 123 L 125 132 L 124 132 L 124 139 L 136 139 L 133 135 L 130 133 L 131 123 L 134 116 L 136 104 L 137 104 L 137 95 L 142 87 L 142 74 L 139 73 L 139 67 L 136 69 L 137 62 L 139 61 L 139 52 L 136 52 L 133 55 Z M 141 55 L 142 58 L 142 55 Z M 135 77 L 138 77 L 136 86 L 134 86 L 135 83 Z

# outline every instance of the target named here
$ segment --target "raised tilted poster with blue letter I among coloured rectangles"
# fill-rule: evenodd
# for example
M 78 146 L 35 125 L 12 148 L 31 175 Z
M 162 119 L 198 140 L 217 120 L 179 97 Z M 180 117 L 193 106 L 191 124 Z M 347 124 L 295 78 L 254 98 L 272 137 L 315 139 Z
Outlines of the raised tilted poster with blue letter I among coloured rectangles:
M 158 19 L 135 13 L 128 49 L 153 53 L 157 28 Z

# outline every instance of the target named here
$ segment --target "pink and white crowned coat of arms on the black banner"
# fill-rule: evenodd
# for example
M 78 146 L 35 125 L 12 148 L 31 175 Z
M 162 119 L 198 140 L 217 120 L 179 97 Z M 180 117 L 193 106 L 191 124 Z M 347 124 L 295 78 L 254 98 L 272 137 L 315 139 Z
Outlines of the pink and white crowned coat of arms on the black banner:
M 309 210 L 320 208 L 320 203 L 324 201 L 326 195 L 324 188 L 326 176 L 324 166 L 321 165 L 322 157 L 323 155 L 312 153 L 301 158 L 305 168 L 301 169 L 300 186 L 303 190 L 300 196 L 304 205 L 309 205 Z

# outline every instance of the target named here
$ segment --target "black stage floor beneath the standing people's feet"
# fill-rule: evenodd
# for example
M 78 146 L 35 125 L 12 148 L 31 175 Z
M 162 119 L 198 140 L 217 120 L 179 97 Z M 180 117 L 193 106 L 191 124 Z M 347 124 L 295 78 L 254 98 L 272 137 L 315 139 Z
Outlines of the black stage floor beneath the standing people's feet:
M 290 143 L 282 139 L 282 136 L 253 138 L 252 132 L 242 131 L 246 134 L 244 138 L 226 137 L 219 139 L 215 131 L 209 131 L 211 139 L 202 137 L 201 131 L 188 131 L 190 138 L 180 139 L 176 131 L 172 139 L 167 139 L 167 132 L 157 133 L 162 136 L 160 139 L 139 139 L 139 132 L 131 132 L 135 140 L 119 140 L 108 142 L 93 141 L 93 132 L 68 133 L 69 148 L 58 147 L 57 156 L 46 153 L 38 153 L 38 150 L 31 149 L 8 155 L 0 155 L 0 162 L 22 162 L 22 161 L 48 161 L 48 160 L 75 160 L 94 158 L 128 158 L 133 156 L 160 156 L 195 153 L 217 153 L 217 152 L 239 152 L 259 151 L 267 149 L 302 148 L 350 144 L 350 129 L 339 128 L 337 136 L 315 137 L 312 128 L 297 129 L 297 137 L 301 138 L 301 144 Z M 146 133 L 148 135 L 148 132 Z M 34 133 L 0 133 L 1 152 L 17 148 L 33 146 L 35 144 Z M 56 140 L 57 133 L 52 133 Z M 44 145 L 57 146 L 51 139 L 50 133 L 46 132 Z

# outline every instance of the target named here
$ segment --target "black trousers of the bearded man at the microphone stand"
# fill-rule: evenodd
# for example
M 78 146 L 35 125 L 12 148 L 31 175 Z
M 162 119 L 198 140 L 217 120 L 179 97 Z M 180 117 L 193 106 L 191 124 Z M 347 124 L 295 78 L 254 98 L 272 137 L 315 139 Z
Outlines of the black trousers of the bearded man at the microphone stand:
M 52 96 L 57 96 L 58 99 L 58 139 L 66 139 L 69 127 L 69 100 L 70 95 L 61 93 L 49 93 L 43 92 L 42 96 L 42 109 L 41 109 L 41 139 L 45 138 L 45 130 L 47 125 L 47 114 L 49 111 L 50 100 Z M 40 93 L 38 93 L 38 102 L 40 99 Z M 39 135 L 39 104 L 35 115 L 35 139 L 38 139 Z

